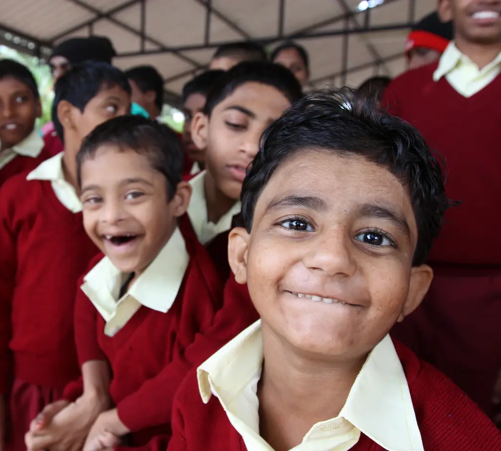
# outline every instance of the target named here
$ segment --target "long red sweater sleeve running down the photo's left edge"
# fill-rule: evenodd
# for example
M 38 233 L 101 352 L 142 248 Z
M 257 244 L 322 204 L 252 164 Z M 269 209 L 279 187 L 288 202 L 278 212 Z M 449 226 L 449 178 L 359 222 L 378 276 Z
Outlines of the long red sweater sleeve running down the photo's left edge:
M 0 189 L 0 394 L 5 394 L 12 376 L 9 343 L 12 337 L 11 305 L 17 272 L 17 234 L 14 202 L 9 183 Z

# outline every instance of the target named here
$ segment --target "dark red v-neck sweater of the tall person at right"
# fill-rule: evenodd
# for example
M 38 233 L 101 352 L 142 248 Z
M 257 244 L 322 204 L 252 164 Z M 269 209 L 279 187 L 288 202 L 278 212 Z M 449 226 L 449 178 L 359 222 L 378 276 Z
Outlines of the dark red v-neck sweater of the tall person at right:
M 447 164 L 446 191 L 461 201 L 445 215 L 431 262 L 501 266 L 501 75 L 470 98 L 445 77 L 432 79 L 437 63 L 396 78 L 383 96 L 391 114 L 414 125 Z

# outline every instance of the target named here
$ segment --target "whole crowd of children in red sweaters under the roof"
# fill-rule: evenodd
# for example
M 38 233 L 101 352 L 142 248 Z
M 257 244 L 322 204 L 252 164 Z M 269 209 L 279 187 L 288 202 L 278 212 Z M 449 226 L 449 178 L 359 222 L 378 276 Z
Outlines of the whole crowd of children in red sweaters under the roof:
M 0 61 L 0 451 L 499 451 L 501 11 L 477 4 L 440 0 L 408 48 L 438 60 L 359 92 L 303 95 L 295 43 L 223 46 L 182 135 L 109 41 L 56 49 L 44 137 Z

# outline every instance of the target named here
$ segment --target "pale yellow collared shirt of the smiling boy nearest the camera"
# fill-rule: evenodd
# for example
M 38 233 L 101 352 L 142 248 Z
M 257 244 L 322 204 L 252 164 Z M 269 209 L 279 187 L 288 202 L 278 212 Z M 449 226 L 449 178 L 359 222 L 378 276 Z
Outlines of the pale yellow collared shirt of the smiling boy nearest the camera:
M 273 451 L 259 433 L 257 386 L 263 366 L 258 321 L 197 370 L 203 402 L 219 399 L 248 451 Z M 291 451 L 347 451 L 363 432 L 387 451 L 423 451 L 409 387 L 389 335 L 371 351 L 339 416 L 314 424 Z

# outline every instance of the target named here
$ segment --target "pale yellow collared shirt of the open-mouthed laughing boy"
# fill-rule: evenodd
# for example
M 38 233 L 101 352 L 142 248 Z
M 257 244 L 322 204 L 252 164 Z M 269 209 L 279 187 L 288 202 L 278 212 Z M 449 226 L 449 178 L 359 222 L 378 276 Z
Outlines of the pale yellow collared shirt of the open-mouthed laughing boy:
M 105 335 L 113 337 L 141 306 L 167 313 L 179 292 L 188 262 L 183 236 L 176 229 L 155 260 L 118 299 L 128 275 L 121 273 L 108 257 L 101 260 L 84 277 L 81 289 L 106 321 Z

